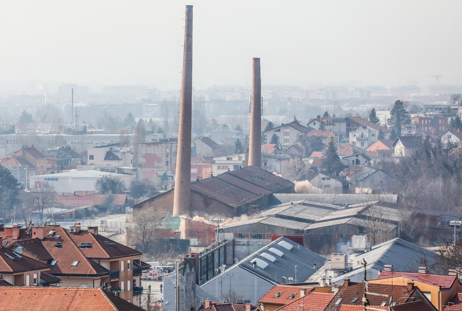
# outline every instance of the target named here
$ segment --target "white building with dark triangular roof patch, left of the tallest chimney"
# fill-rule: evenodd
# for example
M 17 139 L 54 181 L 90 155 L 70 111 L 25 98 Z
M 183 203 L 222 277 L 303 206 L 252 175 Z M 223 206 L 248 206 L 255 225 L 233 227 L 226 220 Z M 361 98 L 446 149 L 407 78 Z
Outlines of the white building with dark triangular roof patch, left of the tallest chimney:
M 97 146 L 87 150 L 88 165 L 109 165 L 133 167 L 133 147 L 119 147 L 119 144 Z

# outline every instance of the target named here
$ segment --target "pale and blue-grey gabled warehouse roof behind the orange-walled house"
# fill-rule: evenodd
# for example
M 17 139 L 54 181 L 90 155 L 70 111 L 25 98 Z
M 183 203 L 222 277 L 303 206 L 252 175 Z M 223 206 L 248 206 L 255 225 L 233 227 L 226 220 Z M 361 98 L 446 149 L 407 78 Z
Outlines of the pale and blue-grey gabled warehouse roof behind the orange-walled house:
M 384 265 L 393 265 L 396 271 L 417 270 L 422 264 L 421 258 L 426 258 L 429 264 L 435 261 L 436 253 L 424 249 L 413 243 L 406 242 L 400 238 L 394 238 L 382 244 L 374 246 L 371 251 L 351 257 L 353 259 L 353 270 L 332 279 L 333 283 L 343 283 L 345 277 L 352 277 L 356 274 L 364 274 L 362 265 L 366 261 L 366 268 L 374 271 L 383 270 Z M 375 275 L 377 277 L 377 274 Z

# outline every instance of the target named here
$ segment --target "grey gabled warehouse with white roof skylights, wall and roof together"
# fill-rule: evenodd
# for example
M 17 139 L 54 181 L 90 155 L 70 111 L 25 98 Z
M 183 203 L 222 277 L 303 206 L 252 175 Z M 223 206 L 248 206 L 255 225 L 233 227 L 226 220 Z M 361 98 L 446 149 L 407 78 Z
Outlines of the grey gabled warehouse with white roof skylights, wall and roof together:
M 303 268 L 297 269 L 297 273 L 293 268 L 294 261 L 304 263 Z M 304 282 L 316 273 L 316 267 L 321 267 L 325 261 L 326 258 L 298 243 L 280 237 L 238 261 L 223 274 L 208 280 L 201 287 L 212 295 L 220 297 L 219 284 L 229 278 L 227 288 L 243 293 L 244 302 L 257 304 L 258 300 L 274 285 L 286 283 L 287 278 L 293 278 L 295 283 Z

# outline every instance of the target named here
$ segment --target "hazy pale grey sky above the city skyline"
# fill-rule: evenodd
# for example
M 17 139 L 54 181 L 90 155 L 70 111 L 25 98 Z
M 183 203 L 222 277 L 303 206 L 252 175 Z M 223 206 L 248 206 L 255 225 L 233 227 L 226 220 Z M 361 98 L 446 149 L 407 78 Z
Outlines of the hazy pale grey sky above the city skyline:
M 194 1 L 2 1 L 0 81 L 181 81 L 184 5 Z M 422 85 L 462 82 L 462 1 L 195 0 L 193 83 Z

